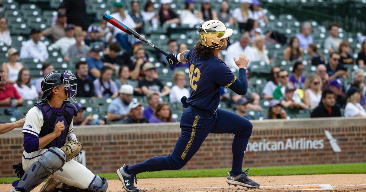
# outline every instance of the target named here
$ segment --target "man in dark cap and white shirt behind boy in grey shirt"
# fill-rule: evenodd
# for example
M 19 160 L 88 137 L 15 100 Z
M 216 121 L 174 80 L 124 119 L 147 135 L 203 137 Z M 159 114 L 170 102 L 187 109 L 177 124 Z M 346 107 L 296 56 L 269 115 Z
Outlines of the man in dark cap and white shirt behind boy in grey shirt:
M 70 45 L 74 45 L 76 43 L 74 33 L 75 33 L 75 26 L 72 24 L 67 25 L 65 27 L 66 37 L 60 38 L 54 44 L 52 44 L 51 47 L 53 49 L 59 49 L 61 51 L 61 54 L 65 55 Z

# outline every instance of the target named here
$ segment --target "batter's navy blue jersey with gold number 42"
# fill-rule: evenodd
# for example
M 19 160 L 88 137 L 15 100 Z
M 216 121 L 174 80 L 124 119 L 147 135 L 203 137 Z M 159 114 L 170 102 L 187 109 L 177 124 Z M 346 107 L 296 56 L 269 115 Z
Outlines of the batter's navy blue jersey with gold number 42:
M 228 88 L 236 77 L 229 67 L 216 56 L 198 57 L 192 48 L 189 60 L 190 97 L 187 103 L 195 108 L 213 111 L 220 103 L 221 86 Z

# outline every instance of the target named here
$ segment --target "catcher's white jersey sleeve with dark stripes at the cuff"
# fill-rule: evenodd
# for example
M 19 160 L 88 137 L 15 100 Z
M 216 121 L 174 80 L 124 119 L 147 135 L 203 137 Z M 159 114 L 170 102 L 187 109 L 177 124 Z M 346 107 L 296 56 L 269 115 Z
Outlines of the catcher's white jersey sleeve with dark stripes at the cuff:
M 43 125 L 43 114 L 41 109 L 34 106 L 31 108 L 25 116 L 25 122 L 22 133 L 30 133 L 35 136 L 39 136 Z

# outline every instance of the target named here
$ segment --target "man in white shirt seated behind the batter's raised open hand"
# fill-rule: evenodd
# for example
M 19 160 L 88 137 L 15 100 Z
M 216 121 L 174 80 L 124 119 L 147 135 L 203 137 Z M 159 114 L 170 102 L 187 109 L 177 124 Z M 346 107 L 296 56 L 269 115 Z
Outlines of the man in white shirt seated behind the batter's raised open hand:
M 239 37 L 239 41 L 230 45 L 226 50 L 225 63 L 230 68 L 236 68 L 236 64 L 234 61 L 234 57 L 238 57 L 238 54 L 243 52 L 247 54 L 249 59 L 248 69 L 250 67 L 250 61 L 254 59 L 254 50 L 249 46 L 250 37 L 244 33 L 242 33 Z

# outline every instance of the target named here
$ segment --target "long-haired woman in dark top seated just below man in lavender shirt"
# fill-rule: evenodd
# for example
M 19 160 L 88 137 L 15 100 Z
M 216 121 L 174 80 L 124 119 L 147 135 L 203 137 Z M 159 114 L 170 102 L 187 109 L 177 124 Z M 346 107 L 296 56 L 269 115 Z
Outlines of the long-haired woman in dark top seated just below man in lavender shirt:
M 292 61 L 294 61 L 294 60 L 301 61 L 303 54 L 304 54 L 304 50 L 302 48 L 300 48 L 298 38 L 291 37 L 290 44 L 285 49 L 285 52 L 283 53 L 283 60 L 284 61 L 290 60 L 290 64 L 292 64 Z

